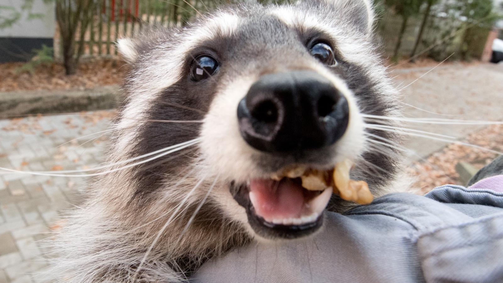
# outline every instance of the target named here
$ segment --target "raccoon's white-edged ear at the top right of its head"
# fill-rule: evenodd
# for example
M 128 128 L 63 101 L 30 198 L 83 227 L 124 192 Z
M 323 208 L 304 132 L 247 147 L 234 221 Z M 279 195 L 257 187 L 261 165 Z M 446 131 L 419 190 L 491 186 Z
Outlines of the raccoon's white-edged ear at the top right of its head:
M 369 34 L 374 27 L 374 3 L 373 0 L 322 0 L 329 5 L 335 6 L 341 11 L 346 19 L 354 24 L 361 32 Z

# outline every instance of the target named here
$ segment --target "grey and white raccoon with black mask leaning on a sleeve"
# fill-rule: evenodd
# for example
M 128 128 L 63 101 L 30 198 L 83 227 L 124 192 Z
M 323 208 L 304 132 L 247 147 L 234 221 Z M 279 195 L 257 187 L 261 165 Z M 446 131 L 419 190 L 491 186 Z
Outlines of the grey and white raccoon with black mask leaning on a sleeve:
M 119 40 L 130 71 L 112 170 L 68 218 L 53 273 L 184 282 L 251 241 L 309 238 L 324 211 L 354 204 L 298 178 L 271 179 L 294 165 L 329 170 L 349 159 L 352 178 L 374 196 L 389 192 L 400 156 L 368 139 L 400 136 L 364 122 L 400 112 L 374 18 L 370 0 L 244 3 Z

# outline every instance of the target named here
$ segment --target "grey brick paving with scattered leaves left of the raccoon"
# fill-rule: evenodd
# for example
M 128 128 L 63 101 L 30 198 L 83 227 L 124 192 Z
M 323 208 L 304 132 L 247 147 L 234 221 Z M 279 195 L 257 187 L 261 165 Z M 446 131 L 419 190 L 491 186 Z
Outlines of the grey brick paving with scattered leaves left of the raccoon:
M 0 167 L 23 171 L 95 167 L 102 160 L 111 114 L 82 114 L 0 120 Z M 92 139 L 96 138 L 97 139 Z M 35 273 L 47 267 L 40 240 L 59 227 L 58 218 L 78 191 L 82 177 L 49 177 L 0 173 L 0 283 L 39 282 Z

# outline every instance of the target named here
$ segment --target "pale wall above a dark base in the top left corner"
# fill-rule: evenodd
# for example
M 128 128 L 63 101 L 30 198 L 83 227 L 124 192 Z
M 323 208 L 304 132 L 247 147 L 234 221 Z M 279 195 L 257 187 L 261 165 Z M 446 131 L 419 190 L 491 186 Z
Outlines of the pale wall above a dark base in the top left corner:
M 56 27 L 54 1 L 50 4 L 44 4 L 43 0 L 34 0 L 31 13 L 40 13 L 45 15 L 43 19 L 28 20 L 29 11 L 23 11 L 21 6 L 25 0 L 0 0 L 0 6 L 14 7 L 16 11 L 21 12 L 22 16 L 11 27 L 0 29 L 0 37 L 42 37 L 53 38 Z M 8 10 L 2 10 L 4 17 L 8 17 Z

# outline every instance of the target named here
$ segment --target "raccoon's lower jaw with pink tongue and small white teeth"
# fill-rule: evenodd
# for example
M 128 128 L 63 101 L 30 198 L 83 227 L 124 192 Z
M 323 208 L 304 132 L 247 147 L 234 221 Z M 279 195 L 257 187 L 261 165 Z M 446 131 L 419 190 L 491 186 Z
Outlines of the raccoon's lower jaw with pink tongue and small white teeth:
M 332 194 L 332 188 L 307 190 L 300 178 L 251 179 L 231 183 L 230 190 L 245 208 L 251 229 L 265 239 L 295 239 L 316 232 Z

